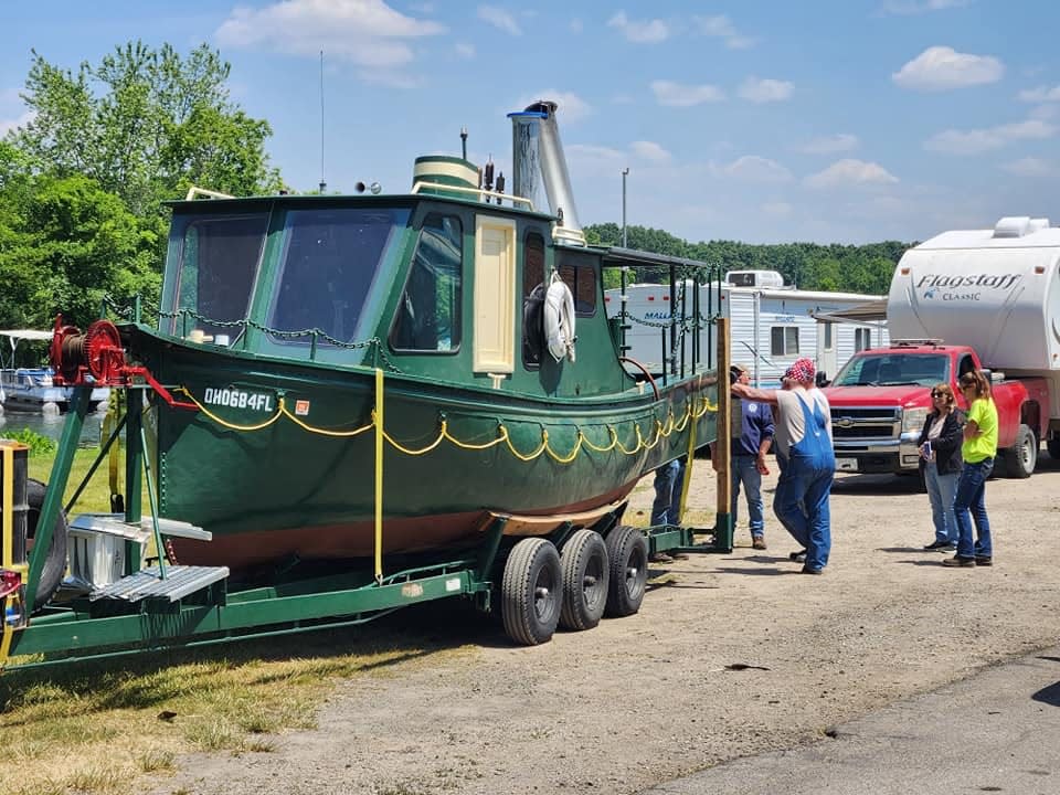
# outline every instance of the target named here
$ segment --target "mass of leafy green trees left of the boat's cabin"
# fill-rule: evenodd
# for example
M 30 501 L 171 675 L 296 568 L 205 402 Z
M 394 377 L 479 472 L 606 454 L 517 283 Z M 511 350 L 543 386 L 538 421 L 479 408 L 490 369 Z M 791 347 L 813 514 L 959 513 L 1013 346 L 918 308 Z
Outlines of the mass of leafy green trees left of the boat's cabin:
M 283 187 L 268 123 L 229 98 L 230 67 L 206 45 L 116 47 L 76 71 L 33 52 L 33 118 L 0 141 L 0 326 L 86 326 L 103 298 L 157 305 L 162 202 L 192 184 L 233 194 Z

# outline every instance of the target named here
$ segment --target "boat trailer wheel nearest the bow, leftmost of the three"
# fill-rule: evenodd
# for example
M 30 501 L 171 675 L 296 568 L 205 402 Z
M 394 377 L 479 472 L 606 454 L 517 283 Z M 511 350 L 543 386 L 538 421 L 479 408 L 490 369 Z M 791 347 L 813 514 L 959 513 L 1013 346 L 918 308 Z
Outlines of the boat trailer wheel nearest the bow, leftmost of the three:
M 500 602 L 505 632 L 516 643 L 547 643 L 560 622 L 562 571 L 560 553 L 540 538 L 517 543 L 501 580 Z

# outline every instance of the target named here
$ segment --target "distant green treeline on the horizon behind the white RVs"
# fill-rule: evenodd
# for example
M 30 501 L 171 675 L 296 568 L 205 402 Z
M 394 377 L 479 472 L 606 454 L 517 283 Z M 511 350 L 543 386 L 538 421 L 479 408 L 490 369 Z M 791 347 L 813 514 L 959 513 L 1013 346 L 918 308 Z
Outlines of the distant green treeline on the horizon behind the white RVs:
M 752 245 L 735 241 L 688 243 L 668 232 L 644 226 L 627 226 L 629 248 L 698 259 L 729 271 L 778 271 L 784 283 L 802 289 L 867 293 L 882 295 L 890 289 L 891 275 L 912 243 L 886 241 L 862 246 L 784 243 Z M 597 245 L 621 245 L 622 229 L 614 223 L 585 227 L 585 237 Z M 644 269 L 637 282 L 665 283 L 666 268 Z M 617 286 L 618 276 L 611 278 Z

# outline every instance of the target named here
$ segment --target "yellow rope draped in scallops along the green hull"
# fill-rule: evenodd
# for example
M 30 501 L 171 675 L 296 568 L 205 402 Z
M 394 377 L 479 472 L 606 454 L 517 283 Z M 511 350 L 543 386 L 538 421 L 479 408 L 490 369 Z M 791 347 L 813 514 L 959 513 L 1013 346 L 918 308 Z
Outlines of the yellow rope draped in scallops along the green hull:
M 304 431 L 307 431 L 312 434 L 318 434 L 321 436 L 329 436 L 332 438 L 351 438 L 353 436 L 359 436 L 360 434 L 371 431 L 377 425 L 377 415 L 375 415 L 375 411 L 373 410 L 371 422 L 369 422 L 367 425 L 362 425 L 359 428 L 353 428 L 352 431 L 332 431 L 330 428 L 314 427 L 312 425 L 309 425 L 307 422 L 305 422 L 303 418 L 292 413 L 292 411 L 287 409 L 286 400 L 283 396 L 280 396 L 279 400 L 277 401 L 276 413 L 273 414 L 273 416 L 271 416 L 269 418 L 261 423 L 256 423 L 254 425 L 237 425 L 211 412 L 202 403 L 200 403 L 195 399 L 195 396 L 191 394 L 191 392 L 188 389 L 183 386 L 178 386 L 174 390 L 174 392 L 182 392 L 184 395 L 187 395 L 188 399 L 199 407 L 199 411 L 202 412 L 204 416 L 209 417 L 211 421 L 213 421 L 218 425 L 229 428 L 230 431 L 239 431 L 243 433 L 252 433 L 255 431 L 262 431 L 264 428 L 267 428 L 269 425 L 273 425 L 274 423 L 276 423 L 282 416 L 287 417 L 288 420 L 294 422 L 296 425 L 301 427 Z M 695 401 L 689 400 L 687 405 L 685 406 L 685 412 L 681 415 L 680 420 L 677 420 L 674 416 L 672 411 L 667 412 L 666 422 L 659 421 L 658 417 L 651 417 L 651 420 L 654 421 L 654 428 L 653 428 L 654 438 L 651 437 L 653 432 L 649 432 L 648 436 L 650 441 L 647 441 L 645 438 L 644 432 L 640 430 L 642 421 L 634 420 L 633 432 L 632 432 L 633 438 L 628 439 L 628 436 L 627 436 L 627 441 L 629 444 L 623 444 L 619 441 L 618 432 L 611 424 L 598 425 L 595 423 L 591 423 L 590 425 L 586 426 L 586 428 L 603 427 L 607 431 L 610 441 L 608 443 L 603 445 L 597 445 L 591 442 L 589 436 L 586 436 L 584 431 L 582 430 L 582 426 L 575 425 L 574 430 L 576 432 L 576 437 L 574 441 L 574 446 L 566 453 L 559 453 L 552 447 L 552 445 L 549 442 L 549 430 L 542 423 L 534 423 L 541 428 L 541 444 L 538 445 L 530 453 L 519 451 L 515 446 L 515 444 L 512 444 L 511 435 L 508 430 L 508 426 L 505 425 L 502 421 L 497 422 L 497 435 L 488 442 L 470 442 L 470 441 L 462 442 L 459 438 L 457 438 L 452 433 L 449 433 L 449 418 L 447 416 L 439 417 L 439 427 L 438 427 L 437 437 L 435 437 L 433 442 L 430 442 L 423 447 L 415 447 L 415 448 L 406 447 L 401 443 L 399 443 L 398 441 L 395 441 L 394 437 L 391 436 L 385 430 L 383 430 L 382 433 L 383 433 L 383 438 L 386 439 L 388 444 L 390 444 L 391 447 L 410 456 L 426 455 L 431 451 L 435 449 L 439 444 L 442 444 L 443 441 L 445 441 L 445 442 L 449 442 L 456 447 L 459 447 L 460 449 L 467 449 L 467 451 L 484 451 L 484 449 L 489 449 L 490 447 L 496 447 L 498 445 L 504 444 L 504 445 L 507 445 L 512 456 L 515 456 L 516 458 L 522 462 L 532 462 L 536 458 L 539 458 L 540 456 L 547 454 L 550 458 L 552 458 L 558 464 L 570 464 L 575 458 L 577 458 L 577 455 L 583 447 L 587 447 L 589 449 L 594 451 L 596 453 L 610 453 L 612 451 L 617 449 L 619 453 L 627 456 L 636 455 L 642 451 L 651 449 L 657 444 L 659 444 L 661 439 L 669 438 L 669 436 L 672 435 L 675 432 L 683 433 L 685 430 L 688 427 L 689 422 L 693 420 L 699 420 L 704 414 L 707 414 L 707 412 L 717 412 L 717 411 L 718 411 L 718 406 L 712 405 L 706 396 L 699 396 Z

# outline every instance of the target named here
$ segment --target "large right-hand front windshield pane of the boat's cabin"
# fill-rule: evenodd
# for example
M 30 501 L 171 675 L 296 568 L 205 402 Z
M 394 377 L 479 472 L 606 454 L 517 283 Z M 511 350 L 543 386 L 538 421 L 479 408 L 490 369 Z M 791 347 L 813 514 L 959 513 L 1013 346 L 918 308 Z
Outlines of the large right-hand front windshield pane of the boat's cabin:
M 353 342 L 361 308 L 407 210 L 292 210 L 268 312 L 280 341 Z

